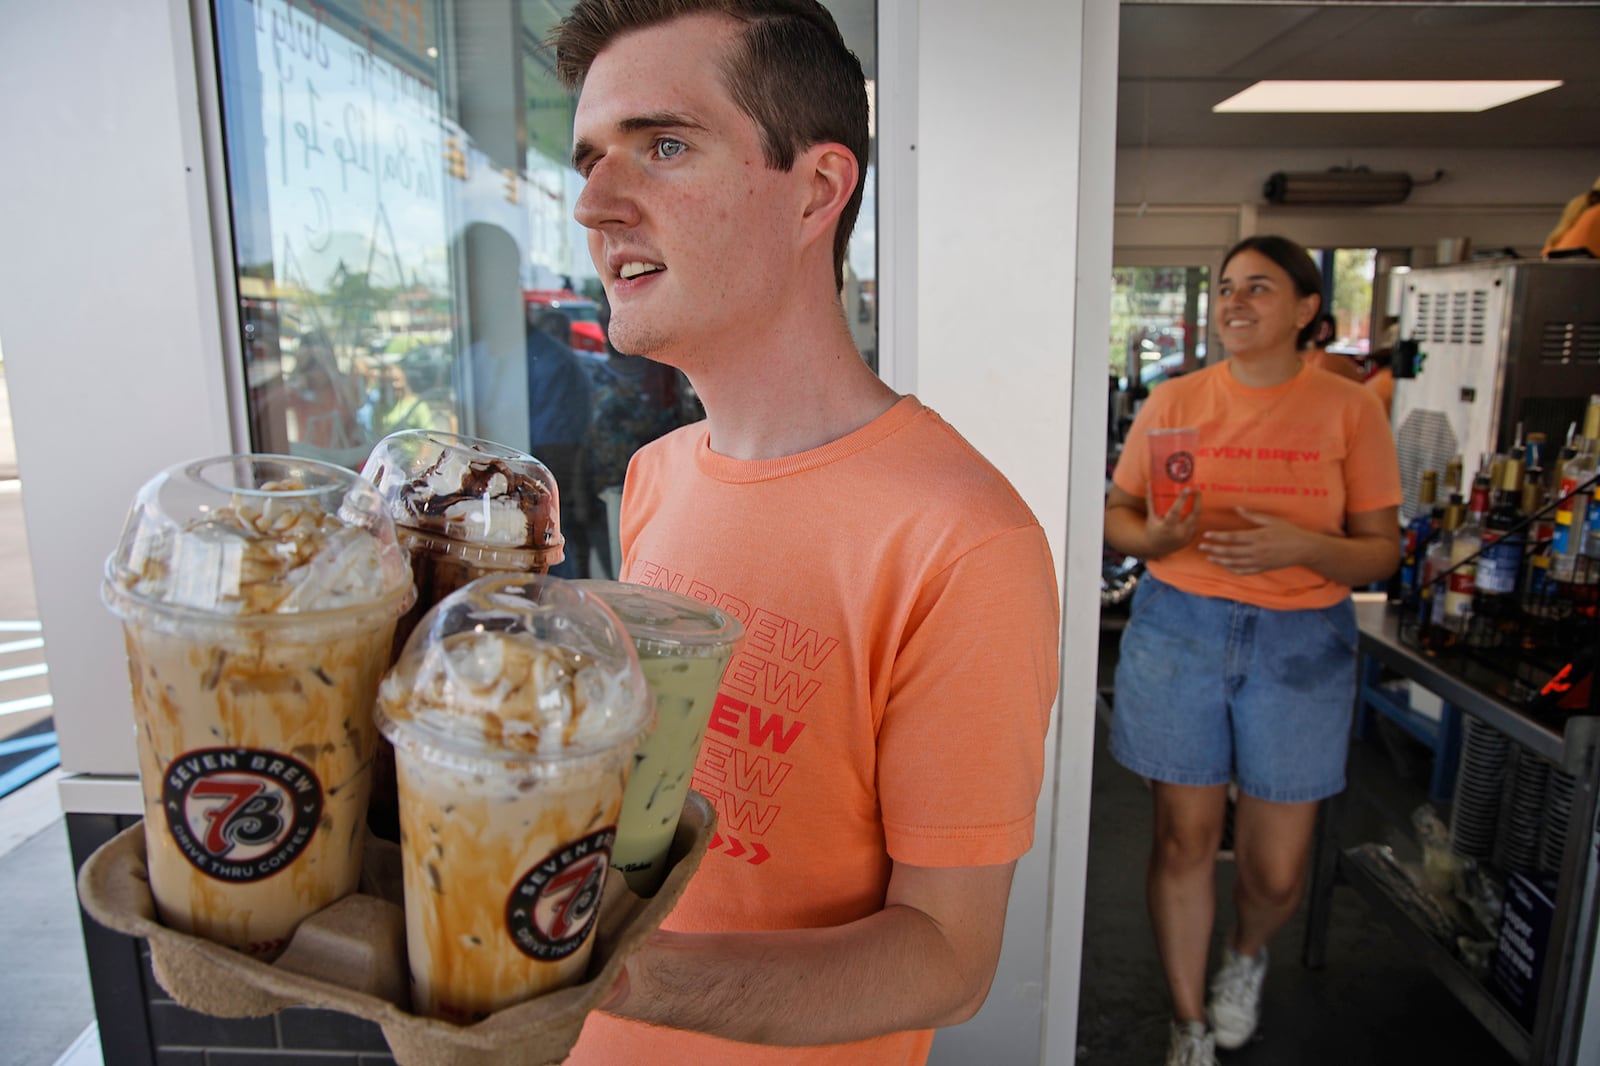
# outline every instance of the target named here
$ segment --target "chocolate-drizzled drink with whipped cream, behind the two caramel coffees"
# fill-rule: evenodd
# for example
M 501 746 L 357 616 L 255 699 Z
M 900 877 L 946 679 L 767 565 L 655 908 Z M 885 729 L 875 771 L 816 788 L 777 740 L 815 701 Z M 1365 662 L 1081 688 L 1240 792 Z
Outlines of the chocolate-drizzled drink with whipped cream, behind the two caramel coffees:
M 563 559 L 560 491 L 531 455 L 488 440 L 408 429 L 378 442 L 362 467 L 411 559 L 416 603 L 395 627 L 392 659 L 418 619 L 469 581 L 549 573 Z M 373 832 L 398 839 L 394 749 L 373 768 Z

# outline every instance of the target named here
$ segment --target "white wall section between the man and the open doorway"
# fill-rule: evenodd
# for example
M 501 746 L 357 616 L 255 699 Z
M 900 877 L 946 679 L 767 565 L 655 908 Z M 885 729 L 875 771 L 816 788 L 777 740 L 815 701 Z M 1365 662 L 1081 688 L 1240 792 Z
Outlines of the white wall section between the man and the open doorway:
M 915 391 L 1034 507 L 1075 608 L 1066 613 L 1035 844 L 1018 866 L 1000 972 L 979 1016 L 938 1036 L 933 1061 L 1072 1063 L 1094 728 L 1117 5 L 992 0 L 974 18 L 963 0 L 925 0 L 918 22 L 915 149 L 894 146 L 917 160 Z M 1006 330 L 997 331 L 995 314 Z M 1088 472 L 1070 485 L 1070 509 L 1069 463 L 1074 477 Z

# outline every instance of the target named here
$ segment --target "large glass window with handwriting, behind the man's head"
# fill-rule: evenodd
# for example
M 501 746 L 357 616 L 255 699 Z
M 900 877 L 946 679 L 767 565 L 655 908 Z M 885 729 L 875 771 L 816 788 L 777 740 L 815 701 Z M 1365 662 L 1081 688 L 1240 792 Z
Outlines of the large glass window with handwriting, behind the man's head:
M 875 5 L 827 3 L 875 77 Z M 398 429 L 531 451 L 571 576 L 610 576 L 629 456 L 701 416 L 606 346 L 573 221 L 574 98 L 541 42 L 571 0 L 214 0 L 251 447 L 358 469 Z M 877 367 L 867 163 L 846 317 Z

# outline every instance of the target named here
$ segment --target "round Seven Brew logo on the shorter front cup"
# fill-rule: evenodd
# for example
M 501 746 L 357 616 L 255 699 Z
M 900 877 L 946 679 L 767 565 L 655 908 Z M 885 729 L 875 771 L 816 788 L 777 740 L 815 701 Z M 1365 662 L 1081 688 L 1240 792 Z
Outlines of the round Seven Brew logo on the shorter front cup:
M 506 927 L 522 954 L 555 962 L 582 948 L 600 916 L 614 840 L 614 828 L 602 829 L 552 852 L 518 879 L 506 901 Z

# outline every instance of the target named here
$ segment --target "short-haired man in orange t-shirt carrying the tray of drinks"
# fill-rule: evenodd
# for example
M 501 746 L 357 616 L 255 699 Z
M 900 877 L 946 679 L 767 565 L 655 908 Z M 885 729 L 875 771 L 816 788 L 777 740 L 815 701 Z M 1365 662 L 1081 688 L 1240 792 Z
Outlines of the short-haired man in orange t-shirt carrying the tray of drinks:
M 922 1063 L 1032 844 L 1045 535 L 851 344 L 867 102 L 821 5 L 581 0 L 555 46 L 611 341 L 707 413 L 629 466 L 622 575 L 746 626 L 694 775 L 723 844 L 570 1061 Z

